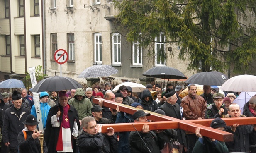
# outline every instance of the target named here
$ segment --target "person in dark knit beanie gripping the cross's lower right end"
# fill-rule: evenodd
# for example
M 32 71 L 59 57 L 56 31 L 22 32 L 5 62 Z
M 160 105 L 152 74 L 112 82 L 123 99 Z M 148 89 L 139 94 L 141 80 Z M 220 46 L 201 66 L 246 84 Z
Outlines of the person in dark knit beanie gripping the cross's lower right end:
M 220 131 L 226 130 L 226 123 L 221 118 L 216 118 L 212 120 L 210 127 L 213 129 L 218 129 Z M 217 141 L 215 139 L 203 137 L 200 134 L 200 128 L 195 129 L 195 134 L 199 138 L 195 143 L 193 148 L 193 153 L 227 153 L 228 148 L 225 142 Z

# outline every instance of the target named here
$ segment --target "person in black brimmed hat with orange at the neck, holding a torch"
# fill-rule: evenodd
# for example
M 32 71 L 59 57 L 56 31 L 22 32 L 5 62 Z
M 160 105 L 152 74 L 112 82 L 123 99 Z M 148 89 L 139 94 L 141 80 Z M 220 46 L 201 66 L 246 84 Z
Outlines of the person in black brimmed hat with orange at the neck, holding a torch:
M 20 153 L 41 153 L 41 144 L 39 140 L 40 132 L 36 127 L 39 122 L 34 115 L 27 115 L 23 122 L 25 129 L 18 135 Z M 48 148 L 43 140 L 43 153 L 47 153 Z

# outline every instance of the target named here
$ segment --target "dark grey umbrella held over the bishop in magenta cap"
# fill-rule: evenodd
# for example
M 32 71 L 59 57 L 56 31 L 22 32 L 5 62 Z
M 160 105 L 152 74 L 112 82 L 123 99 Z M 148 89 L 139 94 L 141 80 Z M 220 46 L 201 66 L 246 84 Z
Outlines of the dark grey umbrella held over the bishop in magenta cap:
M 68 89 L 83 88 L 76 80 L 69 77 L 54 76 L 43 79 L 34 86 L 32 92 L 61 91 Z

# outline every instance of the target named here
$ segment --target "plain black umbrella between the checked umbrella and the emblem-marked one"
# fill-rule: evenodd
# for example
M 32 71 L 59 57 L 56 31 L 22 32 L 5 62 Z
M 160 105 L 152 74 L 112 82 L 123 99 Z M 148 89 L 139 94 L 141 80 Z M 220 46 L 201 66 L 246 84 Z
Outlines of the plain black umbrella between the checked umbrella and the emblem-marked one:
M 178 69 L 167 66 L 152 67 L 142 75 L 161 79 L 187 79 L 187 77 Z

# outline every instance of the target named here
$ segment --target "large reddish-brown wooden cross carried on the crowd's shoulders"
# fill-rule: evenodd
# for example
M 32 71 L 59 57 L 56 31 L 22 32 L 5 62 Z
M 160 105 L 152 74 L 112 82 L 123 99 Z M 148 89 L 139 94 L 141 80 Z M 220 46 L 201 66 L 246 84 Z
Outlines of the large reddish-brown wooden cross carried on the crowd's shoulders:
M 93 103 L 98 104 L 99 100 L 101 100 L 101 98 L 93 98 Z M 121 112 L 126 112 L 128 114 L 133 114 L 137 110 L 141 110 L 139 108 L 134 108 L 132 106 L 116 103 L 105 99 L 103 102 L 103 106 L 112 109 L 116 109 L 117 106 L 119 106 L 119 110 Z M 154 121 L 146 123 L 149 125 L 150 130 L 183 129 L 185 131 L 195 133 L 195 128 L 199 127 L 200 134 L 202 136 L 206 136 L 224 142 L 233 141 L 233 134 L 210 128 L 210 124 L 213 119 L 179 120 L 173 117 L 161 115 L 147 110 L 144 110 L 144 112 L 150 113 L 151 115 L 148 116 L 148 119 Z M 226 122 L 227 126 L 232 126 L 235 123 L 239 125 L 256 124 L 256 117 L 223 118 L 223 120 Z M 144 124 L 145 123 L 133 123 L 133 125 L 131 123 L 104 124 L 102 126 L 102 133 L 108 132 L 107 127 L 114 128 L 115 132 L 135 131 L 134 127 L 136 127 L 138 131 L 140 131 Z

